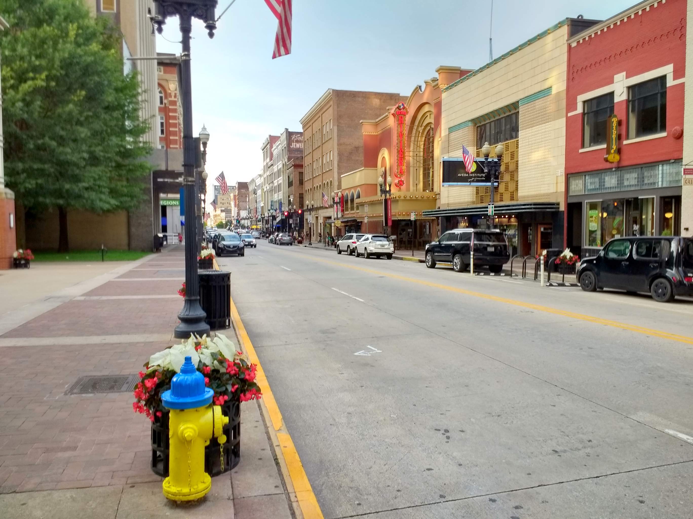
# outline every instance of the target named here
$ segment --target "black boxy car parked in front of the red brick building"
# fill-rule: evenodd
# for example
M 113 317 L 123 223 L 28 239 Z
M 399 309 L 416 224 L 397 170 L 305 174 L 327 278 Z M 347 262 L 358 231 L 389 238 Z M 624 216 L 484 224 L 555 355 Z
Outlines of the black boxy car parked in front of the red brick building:
M 587 292 L 649 292 L 658 302 L 693 295 L 693 239 L 678 236 L 615 238 L 597 257 L 580 262 L 577 282 Z

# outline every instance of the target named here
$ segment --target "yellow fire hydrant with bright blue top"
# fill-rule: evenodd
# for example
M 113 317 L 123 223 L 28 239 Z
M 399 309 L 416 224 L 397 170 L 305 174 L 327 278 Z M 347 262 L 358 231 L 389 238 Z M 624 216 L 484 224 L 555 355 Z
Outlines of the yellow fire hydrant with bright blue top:
M 211 477 L 204 472 L 204 447 L 212 437 L 224 444 L 222 431 L 229 423 L 221 406 L 210 405 L 213 396 L 189 356 L 173 376 L 170 390 L 161 394 L 164 407 L 170 409 L 168 477 L 164 480 L 164 495 L 170 500 L 200 499 L 211 488 Z

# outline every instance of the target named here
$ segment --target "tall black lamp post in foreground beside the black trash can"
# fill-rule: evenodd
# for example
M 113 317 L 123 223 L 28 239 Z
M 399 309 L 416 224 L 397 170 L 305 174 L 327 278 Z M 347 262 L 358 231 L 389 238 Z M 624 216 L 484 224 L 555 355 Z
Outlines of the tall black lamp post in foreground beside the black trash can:
M 209 325 L 204 322 L 207 314 L 200 307 L 200 281 L 198 280 L 198 229 L 195 225 L 195 143 L 193 140 L 193 96 L 190 68 L 190 33 L 193 18 L 204 21 L 210 38 L 214 37 L 217 0 L 155 0 L 155 15 L 152 23 L 161 34 L 166 18 L 176 16 L 179 20 L 182 52 L 180 55 L 181 89 L 183 103 L 183 190 L 185 213 L 192 221 L 185 226 L 185 302 L 178 314 L 180 324 L 173 332 L 176 338 L 188 338 L 191 334 L 209 334 Z M 208 134 L 209 135 L 209 134 Z

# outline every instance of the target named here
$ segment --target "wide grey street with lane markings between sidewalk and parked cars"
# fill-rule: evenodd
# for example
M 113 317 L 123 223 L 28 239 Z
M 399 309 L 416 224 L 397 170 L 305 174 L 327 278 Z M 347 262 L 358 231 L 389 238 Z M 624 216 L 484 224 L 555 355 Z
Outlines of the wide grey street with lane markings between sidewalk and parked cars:
M 326 518 L 693 516 L 693 302 L 263 240 L 218 262 Z

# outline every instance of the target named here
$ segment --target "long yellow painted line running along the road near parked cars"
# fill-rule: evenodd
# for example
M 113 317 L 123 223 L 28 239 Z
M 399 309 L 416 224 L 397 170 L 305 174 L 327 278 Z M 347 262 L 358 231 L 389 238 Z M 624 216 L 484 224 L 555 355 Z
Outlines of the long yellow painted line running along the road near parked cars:
M 414 277 L 406 277 L 403 275 L 392 274 L 389 272 L 374 271 L 374 270 L 371 270 L 370 268 L 364 268 L 361 266 L 354 266 L 354 265 L 347 265 L 347 264 L 340 263 L 340 262 L 333 262 L 332 260 L 322 260 L 322 259 L 317 258 L 317 257 L 310 257 L 310 260 L 313 260 L 315 262 L 329 263 L 329 264 L 333 264 L 333 265 L 337 265 L 337 266 L 342 266 L 345 268 L 352 268 L 353 270 L 356 270 L 356 271 L 362 271 L 362 272 L 367 272 L 367 273 L 376 274 L 376 275 L 384 275 L 387 277 L 392 277 L 393 279 L 396 279 L 396 280 L 402 280 L 402 281 L 407 281 L 410 283 L 422 284 L 425 286 L 430 286 L 430 287 L 435 288 L 435 289 L 442 289 L 442 290 L 446 290 L 446 291 L 450 291 L 450 292 L 462 293 L 464 295 L 473 295 L 475 298 L 482 298 L 482 299 L 491 300 L 491 301 L 495 301 L 495 302 L 501 302 L 504 304 L 511 304 L 515 307 L 529 308 L 529 309 L 533 309 L 533 310 L 537 310 L 537 311 L 543 311 L 546 313 L 553 313 L 556 316 L 563 316 L 563 317 L 568 317 L 568 318 L 572 318 L 572 319 L 578 319 L 578 320 L 583 320 L 583 321 L 587 321 L 587 322 L 593 322 L 593 323 L 595 323 L 595 325 L 605 325 L 605 326 L 610 326 L 613 328 L 619 328 L 619 329 L 634 331 L 636 334 L 643 334 L 643 335 L 649 335 L 649 336 L 653 336 L 653 337 L 660 337 L 660 338 L 664 338 L 664 339 L 675 340 L 678 343 L 693 344 L 693 337 L 676 335 L 676 334 L 669 334 L 669 332 L 667 332 L 667 331 L 644 328 L 642 326 L 637 326 L 637 325 L 627 325 L 624 322 L 602 319 L 602 318 L 593 317 L 593 316 L 586 316 L 583 313 L 574 313 L 571 311 L 559 310 L 559 309 L 554 309 L 554 308 L 550 308 L 550 307 L 543 307 L 540 304 L 532 304 L 532 303 L 528 303 L 528 302 L 524 302 L 524 301 L 518 301 L 518 300 L 514 300 L 514 299 L 499 298 L 497 295 L 489 295 L 489 294 L 482 293 L 482 292 L 475 292 L 475 291 L 471 291 L 471 290 L 458 289 L 455 286 L 448 286 L 445 284 L 433 283 L 430 281 L 417 280 Z

